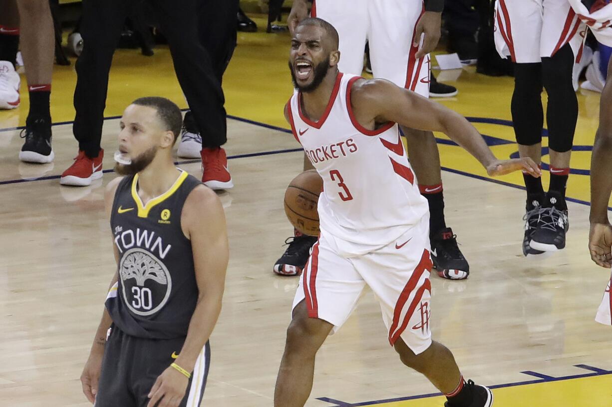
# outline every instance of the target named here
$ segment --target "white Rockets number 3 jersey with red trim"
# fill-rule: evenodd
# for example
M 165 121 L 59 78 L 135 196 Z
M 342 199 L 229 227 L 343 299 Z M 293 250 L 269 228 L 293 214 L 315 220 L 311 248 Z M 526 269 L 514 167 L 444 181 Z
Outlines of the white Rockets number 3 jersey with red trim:
M 323 177 L 321 231 L 334 237 L 347 255 L 384 247 L 428 215 L 398 125 L 389 122 L 367 130 L 354 118 L 351 86 L 359 79 L 338 73 L 317 122 L 302 114 L 300 92 L 287 104 L 293 135 Z

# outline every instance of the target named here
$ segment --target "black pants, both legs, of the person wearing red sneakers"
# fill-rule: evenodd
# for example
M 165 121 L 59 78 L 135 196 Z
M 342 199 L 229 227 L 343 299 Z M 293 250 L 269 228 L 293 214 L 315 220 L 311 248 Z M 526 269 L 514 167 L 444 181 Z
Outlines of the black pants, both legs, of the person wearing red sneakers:
M 125 17 L 132 6 L 130 1 L 137 0 L 83 0 L 81 35 L 84 47 L 76 61 L 76 116 L 73 132 L 79 149 L 89 157 L 96 157 L 100 151 L 108 73 Z M 219 68 L 215 68 L 211 56 L 201 43 L 201 21 L 198 19 L 204 12 L 218 15 L 223 10 L 231 10 L 233 1 L 218 0 L 206 10 L 201 9 L 203 2 L 212 0 L 144 0 L 144 5 L 152 10 L 168 40 L 176 77 L 203 136 L 203 145 L 214 147 L 221 146 L 227 140 L 226 113 L 223 107 L 225 98 L 218 78 Z M 235 20 L 234 13 L 234 31 Z M 209 21 L 216 20 L 211 16 Z M 232 42 L 223 38 L 226 33 L 225 30 L 212 29 L 206 34 L 212 38 L 207 37 L 207 40 L 229 47 Z M 220 54 L 223 52 L 218 51 L 215 55 Z M 223 69 L 225 65 L 226 62 Z M 143 72 L 138 72 L 135 67 L 134 75 L 143 75 Z

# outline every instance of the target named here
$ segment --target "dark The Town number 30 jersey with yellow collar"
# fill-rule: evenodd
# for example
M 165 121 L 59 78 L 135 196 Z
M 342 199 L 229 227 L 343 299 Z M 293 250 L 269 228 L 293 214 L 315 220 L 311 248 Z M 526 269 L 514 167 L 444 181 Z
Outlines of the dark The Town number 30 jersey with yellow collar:
M 111 212 L 119 251 L 118 282 L 106 297 L 113 323 L 128 335 L 185 337 L 198 301 L 191 241 L 181 228 L 181 212 L 200 185 L 182 171 L 163 195 L 143 205 L 138 174 L 119 182 Z

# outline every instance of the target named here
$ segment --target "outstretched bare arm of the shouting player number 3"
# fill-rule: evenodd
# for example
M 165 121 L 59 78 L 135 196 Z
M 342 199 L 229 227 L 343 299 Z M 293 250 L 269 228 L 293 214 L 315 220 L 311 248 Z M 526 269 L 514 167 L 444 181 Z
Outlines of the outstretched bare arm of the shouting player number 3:
M 496 159 L 478 130 L 460 114 L 389 81 L 357 81 L 351 90 L 351 105 L 360 124 L 368 129 L 392 121 L 412 129 L 446 134 L 476 157 L 491 176 L 517 170 L 540 176 L 531 159 Z

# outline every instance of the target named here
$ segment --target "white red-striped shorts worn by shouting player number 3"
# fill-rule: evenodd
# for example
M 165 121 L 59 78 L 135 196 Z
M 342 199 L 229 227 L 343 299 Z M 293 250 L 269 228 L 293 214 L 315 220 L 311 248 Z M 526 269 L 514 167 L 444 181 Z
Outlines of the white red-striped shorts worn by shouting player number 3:
M 321 233 L 300 278 L 293 307 L 305 301 L 308 316 L 346 322 L 365 286 L 381 305 L 390 345 L 402 338 L 415 353 L 431 345 L 431 259 L 428 217 L 389 245 L 362 256 L 338 253 L 334 237 Z

